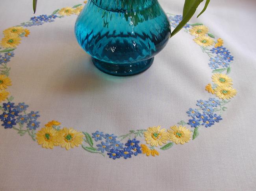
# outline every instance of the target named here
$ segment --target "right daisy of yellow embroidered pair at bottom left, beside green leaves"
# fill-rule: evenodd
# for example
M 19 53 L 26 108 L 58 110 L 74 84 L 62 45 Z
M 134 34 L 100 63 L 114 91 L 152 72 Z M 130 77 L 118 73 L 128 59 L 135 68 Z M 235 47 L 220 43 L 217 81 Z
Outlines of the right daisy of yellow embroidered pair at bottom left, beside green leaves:
M 58 143 L 61 147 L 65 147 L 67 150 L 78 147 L 83 142 L 83 133 L 74 130 L 73 128 L 67 129 L 64 127 L 58 133 Z

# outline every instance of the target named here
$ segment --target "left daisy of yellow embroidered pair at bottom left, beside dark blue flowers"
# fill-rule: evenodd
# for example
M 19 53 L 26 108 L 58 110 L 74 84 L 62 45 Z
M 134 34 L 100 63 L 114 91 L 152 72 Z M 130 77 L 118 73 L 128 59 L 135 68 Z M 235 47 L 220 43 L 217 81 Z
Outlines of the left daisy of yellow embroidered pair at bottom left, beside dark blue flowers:
M 58 146 L 57 131 L 52 127 L 43 127 L 36 133 L 37 142 L 42 145 L 43 148 L 53 149 L 54 146 Z

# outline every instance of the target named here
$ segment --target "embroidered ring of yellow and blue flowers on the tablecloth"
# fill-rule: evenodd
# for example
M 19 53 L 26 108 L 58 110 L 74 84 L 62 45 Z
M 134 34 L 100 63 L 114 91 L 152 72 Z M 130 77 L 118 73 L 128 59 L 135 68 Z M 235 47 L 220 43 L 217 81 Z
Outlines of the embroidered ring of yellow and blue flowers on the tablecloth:
M 86 3 L 86 2 L 84 2 Z M 205 89 L 218 98 L 208 100 L 197 100 L 196 108 L 189 108 L 186 112 L 191 119 L 181 120 L 178 126 L 174 125 L 170 129 L 161 129 L 160 126 L 148 127 L 148 129 L 130 130 L 129 133 L 121 136 L 96 131 L 94 133 L 78 132 L 73 128 L 62 128 L 58 121 L 50 121 L 45 124 L 37 133 L 35 130 L 40 127 L 38 118 L 39 111 L 28 110 L 28 105 L 23 103 L 13 103 L 13 96 L 6 91 L 11 84 L 8 77 L 11 70 L 7 66 L 11 58 L 15 55 L 14 51 L 21 43 L 22 38 L 28 37 L 30 31 L 28 27 L 43 25 L 46 22 L 53 22 L 56 18 L 76 14 L 82 10 L 83 5 L 78 4 L 73 7 L 57 9 L 51 15 L 40 15 L 30 18 L 28 22 L 8 28 L 3 31 L 4 38 L 0 42 L 0 106 L 2 114 L 0 120 L 5 129 L 15 129 L 20 136 L 28 133 L 32 140 L 37 141 L 43 148 L 53 149 L 54 146 L 65 147 L 66 150 L 78 147 L 82 144 L 85 151 L 98 153 L 109 158 L 131 158 L 141 153 L 146 156 L 159 155 L 158 148 L 167 150 L 175 144 L 184 144 L 191 138 L 194 140 L 198 136 L 199 127 L 211 127 L 222 120 L 223 111 L 227 109 L 224 105 L 230 102 L 230 98 L 237 93 L 232 87 L 232 79 L 228 76 L 233 56 L 226 47 L 223 47 L 223 40 L 209 33 L 208 27 L 201 23 L 186 24 L 184 30 L 190 35 L 202 51 L 210 59 L 208 65 L 212 69 L 212 83 L 206 85 Z M 167 14 L 171 25 L 175 28 L 182 20 L 181 15 Z M 189 29 L 189 30 L 188 30 Z M 6 101 L 7 100 L 7 101 Z M 190 127 L 189 127 L 190 126 Z M 137 140 L 137 137 L 145 138 L 145 144 Z M 126 140 L 126 142 L 122 142 Z M 96 142 L 96 143 L 95 143 Z

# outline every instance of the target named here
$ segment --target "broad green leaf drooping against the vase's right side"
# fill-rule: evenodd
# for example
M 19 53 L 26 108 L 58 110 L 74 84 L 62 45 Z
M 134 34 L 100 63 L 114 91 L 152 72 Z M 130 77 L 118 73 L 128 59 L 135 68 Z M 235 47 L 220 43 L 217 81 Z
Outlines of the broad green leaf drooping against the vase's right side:
M 202 3 L 203 0 L 185 0 L 183 7 L 183 18 L 182 21 L 176 26 L 176 28 L 171 33 L 171 37 L 174 36 L 178 31 L 182 29 L 184 25 L 191 19 L 191 17 L 195 14 L 198 5 Z

